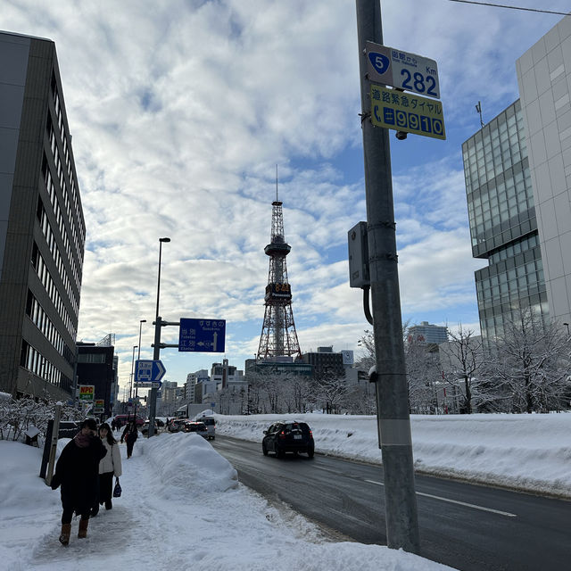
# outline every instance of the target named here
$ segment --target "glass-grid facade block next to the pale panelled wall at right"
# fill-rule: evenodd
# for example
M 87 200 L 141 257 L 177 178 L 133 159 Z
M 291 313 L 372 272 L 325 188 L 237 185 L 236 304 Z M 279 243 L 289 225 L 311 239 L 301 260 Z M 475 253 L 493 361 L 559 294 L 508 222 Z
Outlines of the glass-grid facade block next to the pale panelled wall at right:
M 470 137 L 462 157 L 472 253 L 488 261 L 476 271 L 476 293 L 482 336 L 491 339 L 517 310 L 549 319 L 519 100 Z

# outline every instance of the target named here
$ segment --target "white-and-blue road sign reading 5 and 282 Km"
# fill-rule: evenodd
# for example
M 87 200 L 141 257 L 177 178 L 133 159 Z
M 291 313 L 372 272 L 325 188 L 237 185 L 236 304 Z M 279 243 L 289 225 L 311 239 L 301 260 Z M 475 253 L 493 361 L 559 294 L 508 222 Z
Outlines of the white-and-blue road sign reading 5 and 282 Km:
M 369 80 L 440 99 L 434 60 L 374 42 L 367 42 L 366 51 Z

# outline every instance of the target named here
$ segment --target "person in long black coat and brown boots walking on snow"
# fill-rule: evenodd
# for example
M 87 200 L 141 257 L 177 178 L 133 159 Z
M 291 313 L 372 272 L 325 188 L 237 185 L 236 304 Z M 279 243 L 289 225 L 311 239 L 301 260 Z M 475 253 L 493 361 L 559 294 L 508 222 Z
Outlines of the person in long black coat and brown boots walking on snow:
M 60 542 L 70 542 L 71 517 L 79 514 L 78 537 L 87 537 L 89 514 L 97 497 L 99 460 L 107 450 L 97 437 L 97 425 L 93 418 L 81 423 L 81 430 L 65 445 L 55 465 L 50 485 L 52 490 L 62 486 L 62 532 Z

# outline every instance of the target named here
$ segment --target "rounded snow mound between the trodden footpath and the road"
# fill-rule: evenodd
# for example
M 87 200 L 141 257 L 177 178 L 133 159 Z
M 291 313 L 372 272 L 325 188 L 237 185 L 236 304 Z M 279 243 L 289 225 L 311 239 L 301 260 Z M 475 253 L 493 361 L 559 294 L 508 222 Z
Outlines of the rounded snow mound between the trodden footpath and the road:
M 161 434 L 141 441 L 138 450 L 149 457 L 161 490 L 170 497 L 186 492 L 226 492 L 238 485 L 238 473 L 230 462 L 213 454 L 211 445 L 199 434 Z

